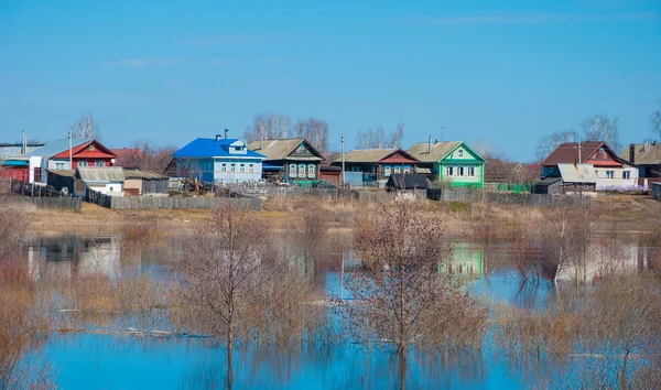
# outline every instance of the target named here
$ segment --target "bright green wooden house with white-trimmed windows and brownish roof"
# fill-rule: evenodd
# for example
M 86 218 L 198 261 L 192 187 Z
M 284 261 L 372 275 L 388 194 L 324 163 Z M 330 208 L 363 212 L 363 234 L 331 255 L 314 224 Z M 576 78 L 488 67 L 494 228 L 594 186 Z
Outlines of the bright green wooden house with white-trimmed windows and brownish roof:
M 464 141 L 420 142 L 408 152 L 420 160 L 418 172 L 433 182 L 456 187 L 484 186 L 486 160 Z

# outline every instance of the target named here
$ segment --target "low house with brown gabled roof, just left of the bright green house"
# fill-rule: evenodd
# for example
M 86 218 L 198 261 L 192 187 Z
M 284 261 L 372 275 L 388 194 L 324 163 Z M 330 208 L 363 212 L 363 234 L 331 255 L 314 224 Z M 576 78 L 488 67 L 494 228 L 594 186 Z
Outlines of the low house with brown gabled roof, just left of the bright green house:
M 362 185 L 377 181 L 387 181 L 392 174 L 414 173 L 420 163 L 418 159 L 408 152 L 397 149 L 357 149 L 345 153 L 345 171 L 351 185 Z M 342 167 L 342 156 L 336 159 L 332 165 Z

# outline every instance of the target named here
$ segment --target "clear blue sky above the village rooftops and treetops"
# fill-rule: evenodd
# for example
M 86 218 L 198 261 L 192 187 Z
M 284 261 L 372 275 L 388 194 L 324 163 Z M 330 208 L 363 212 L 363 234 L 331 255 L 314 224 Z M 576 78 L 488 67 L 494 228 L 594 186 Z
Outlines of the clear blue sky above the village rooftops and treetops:
M 651 137 L 661 0 L 0 0 L 0 142 L 66 137 L 183 145 L 257 112 L 344 133 L 405 122 L 532 160 L 541 136 L 600 112 L 622 143 Z

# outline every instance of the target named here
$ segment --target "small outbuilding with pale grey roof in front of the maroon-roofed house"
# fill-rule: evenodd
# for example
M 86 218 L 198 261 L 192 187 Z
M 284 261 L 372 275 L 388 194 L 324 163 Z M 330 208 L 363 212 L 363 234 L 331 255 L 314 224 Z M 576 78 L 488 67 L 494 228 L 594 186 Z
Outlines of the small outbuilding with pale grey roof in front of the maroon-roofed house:
M 534 194 L 585 194 L 592 195 L 597 186 L 597 173 L 593 164 L 560 163 L 556 169 L 532 186 Z

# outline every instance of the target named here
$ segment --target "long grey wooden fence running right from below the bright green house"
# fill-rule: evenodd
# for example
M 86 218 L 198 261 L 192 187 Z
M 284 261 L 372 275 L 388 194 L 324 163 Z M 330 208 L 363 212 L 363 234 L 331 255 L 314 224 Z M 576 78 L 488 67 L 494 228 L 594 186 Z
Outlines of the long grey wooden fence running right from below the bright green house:
M 427 198 L 443 202 L 514 204 L 534 207 L 587 208 L 592 203 L 592 197 L 581 195 L 508 194 L 460 188 L 430 188 Z

